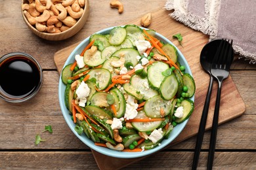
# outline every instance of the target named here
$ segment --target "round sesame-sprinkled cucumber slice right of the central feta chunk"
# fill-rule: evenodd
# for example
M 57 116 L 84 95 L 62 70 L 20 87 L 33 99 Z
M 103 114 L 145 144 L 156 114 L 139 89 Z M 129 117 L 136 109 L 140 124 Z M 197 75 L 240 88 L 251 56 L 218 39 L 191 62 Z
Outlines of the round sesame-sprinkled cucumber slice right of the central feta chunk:
M 150 118 L 161 118 L 160 109 L 165 112 L 164 116 L 167 116 L 172 109 L 173 105 L 171 101 L 167 101 L 161 98 L 160 95 L 148 99 L 144 105 L 146 116 Z

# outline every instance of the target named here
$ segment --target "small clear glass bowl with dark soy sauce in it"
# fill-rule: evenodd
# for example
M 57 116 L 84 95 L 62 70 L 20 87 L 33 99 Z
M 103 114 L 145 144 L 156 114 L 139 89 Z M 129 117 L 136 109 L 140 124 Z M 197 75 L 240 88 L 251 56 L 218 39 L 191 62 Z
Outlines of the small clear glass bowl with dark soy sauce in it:
M 41 89 L 43 71 L 39 63 L 23 52 L 0 58 L 0 97 L 11 103 L 28 101 Z

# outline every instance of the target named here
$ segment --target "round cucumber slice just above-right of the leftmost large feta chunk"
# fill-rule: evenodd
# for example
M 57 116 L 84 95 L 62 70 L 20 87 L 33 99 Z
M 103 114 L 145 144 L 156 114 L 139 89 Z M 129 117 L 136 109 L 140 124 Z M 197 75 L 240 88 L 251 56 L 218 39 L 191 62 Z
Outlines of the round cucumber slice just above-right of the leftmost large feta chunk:
M 107 69 L 91 69 L 88 75 L 90 75 L 90 78 L 96 78 L 96 86 L 98 87 L 98 90 L 106 89 L 111 83 L 111 73 Z

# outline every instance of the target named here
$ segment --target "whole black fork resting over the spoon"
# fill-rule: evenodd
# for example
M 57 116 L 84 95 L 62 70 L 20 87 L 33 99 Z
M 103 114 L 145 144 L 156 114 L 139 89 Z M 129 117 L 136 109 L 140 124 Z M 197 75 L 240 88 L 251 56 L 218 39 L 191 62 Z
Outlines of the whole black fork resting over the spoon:
M 217 127 L 219 121 L 219 107 L 221 101 L 221 86 L 223 80 L 226 79 L 229 75 L 230 65 L 234 58 L 232 53 L 232 43 L 233 41 L 229 40 L 222 40 L 221 44 L 217 50 L 217 55 L 213 59 L 213 64 L 211 65 L 211 74 L 217 79 L 218 81 L 218 91 L 215 103 L 215 110 L 213 116 L 213 125 L 211 129 L 211 139 L 210 139 L 210 146 L 209 146 L 209 155 L 208 155 L 208 162 L 207 162 L 207 169 L 212 169 L 213 167 L 213 159 L 215 153 L 215 146 L 216 146 L 216 138 L 217 138 Z

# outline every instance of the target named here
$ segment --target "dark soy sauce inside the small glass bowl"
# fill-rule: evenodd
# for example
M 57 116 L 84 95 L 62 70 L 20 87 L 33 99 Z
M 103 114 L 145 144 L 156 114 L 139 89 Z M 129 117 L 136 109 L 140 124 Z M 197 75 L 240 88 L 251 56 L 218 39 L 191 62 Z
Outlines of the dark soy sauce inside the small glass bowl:
M 14 57 L 0 65 L 0 90 L 6 97 L 21 99 L 35 92 L 40 71 L 32 60 L 24 56 Z

